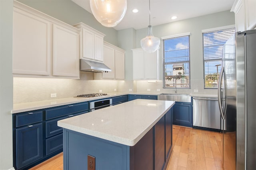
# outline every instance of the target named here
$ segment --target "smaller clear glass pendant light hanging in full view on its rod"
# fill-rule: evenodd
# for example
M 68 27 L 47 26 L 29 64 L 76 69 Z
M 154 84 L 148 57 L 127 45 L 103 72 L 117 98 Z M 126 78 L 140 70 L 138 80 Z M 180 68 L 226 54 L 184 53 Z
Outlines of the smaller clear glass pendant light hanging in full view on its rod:
M 152 33 L 152 26 L 150 25 L 150 0 L 149 0 L 149 25 L 148 25 L 148 35 L 140 40 L 140 45 L 144 51 L 147 53 L 154 53 L 160 45 L 160 39 L 154 37 Z

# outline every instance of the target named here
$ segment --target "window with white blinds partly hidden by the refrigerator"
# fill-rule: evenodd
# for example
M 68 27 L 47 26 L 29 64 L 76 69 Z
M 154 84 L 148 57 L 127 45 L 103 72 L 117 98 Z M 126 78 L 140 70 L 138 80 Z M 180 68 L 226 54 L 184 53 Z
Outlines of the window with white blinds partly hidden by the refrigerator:
M 204 88 L 218 88 L 218 79 L 222 68 L 223 45 L 235 33 L 235 28 L 202 32 Z

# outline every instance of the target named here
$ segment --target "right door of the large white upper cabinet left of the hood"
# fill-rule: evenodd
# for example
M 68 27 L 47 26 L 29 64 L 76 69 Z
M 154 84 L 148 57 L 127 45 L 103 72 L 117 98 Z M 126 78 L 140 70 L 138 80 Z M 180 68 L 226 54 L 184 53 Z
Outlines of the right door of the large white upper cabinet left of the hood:
M 53 76 L 79 77 L 79 34 L 53 25 Z

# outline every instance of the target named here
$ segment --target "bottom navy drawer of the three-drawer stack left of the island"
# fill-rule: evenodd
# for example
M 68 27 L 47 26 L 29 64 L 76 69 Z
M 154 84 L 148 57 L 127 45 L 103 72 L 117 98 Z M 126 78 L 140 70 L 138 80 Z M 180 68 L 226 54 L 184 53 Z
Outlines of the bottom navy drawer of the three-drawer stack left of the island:
M 56 135 L 46 139 L 46 155 L 51 154 L 63 147 L 63 135 Z

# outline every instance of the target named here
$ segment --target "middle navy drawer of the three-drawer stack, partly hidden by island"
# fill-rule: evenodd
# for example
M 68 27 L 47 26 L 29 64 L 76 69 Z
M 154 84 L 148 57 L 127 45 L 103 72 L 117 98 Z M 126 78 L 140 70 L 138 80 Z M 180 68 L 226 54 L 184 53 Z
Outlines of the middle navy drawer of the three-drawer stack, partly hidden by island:
M 68 117 L 73 117 L 73 116 L 76 116 L 76 115 L 87 113 L 87 112 L 88 111 L 84 111 L 82 113 L 76 113 L 76 114 L 68 115 L 68 116 L 65 116 L 65 117 L 58 118 L 58 119 L 46 121 L 46 138 L 51 137 L 53 135 L 56 135 L 58 133 L 62 133 L 62 127 L 59 127 L 57 125 L 57 121 L 62 120 L 62 119 L 66 119 Z

